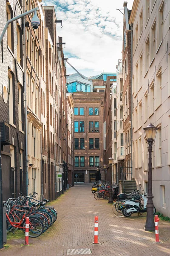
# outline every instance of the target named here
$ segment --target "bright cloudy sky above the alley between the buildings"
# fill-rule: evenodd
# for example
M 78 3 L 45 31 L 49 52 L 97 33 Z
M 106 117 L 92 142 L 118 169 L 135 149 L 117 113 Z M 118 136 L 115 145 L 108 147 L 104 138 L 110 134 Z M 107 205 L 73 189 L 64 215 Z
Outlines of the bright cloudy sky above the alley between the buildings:
M 54 5 L 57 34 L 66 43 L 65 58 L 85 76 L 116 72 L 118 59 L 122 58 L 122 23 L 124 0 L 46 0 L 44 5 Z M 133 0 L 127 0 L 131 9 Z M 122 10 L 123 12 L 123 10 Z M 67 74 L 75 71 L 67 64 Z

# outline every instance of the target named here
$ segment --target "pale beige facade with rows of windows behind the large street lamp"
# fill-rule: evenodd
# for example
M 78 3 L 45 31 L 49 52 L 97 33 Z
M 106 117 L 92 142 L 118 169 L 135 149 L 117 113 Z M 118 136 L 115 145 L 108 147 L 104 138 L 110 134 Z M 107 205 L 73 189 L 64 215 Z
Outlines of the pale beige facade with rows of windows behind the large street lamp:
M 153 202 L 170 216 L 170 1 L 138 0 L 133 24 L 133 177 L 147 191 L 148 150 L 143 128 L 159 130 L 153 144 Z

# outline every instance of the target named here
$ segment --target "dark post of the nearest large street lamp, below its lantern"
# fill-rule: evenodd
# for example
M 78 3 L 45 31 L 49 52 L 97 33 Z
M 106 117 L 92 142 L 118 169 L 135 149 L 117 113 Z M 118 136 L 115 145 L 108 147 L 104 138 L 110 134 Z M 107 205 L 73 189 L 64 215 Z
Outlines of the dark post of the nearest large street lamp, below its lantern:
M 153 195 L 152 195 L 152 144 L 153 140 L 147 140 L 148 152 L 149 152 L 149 163 L 148 163 L 148 189 L 147 189 L 147 215 L 146 224 L 144 225 L 145 231 L 154 231 L 155 223 L 153 219 Z

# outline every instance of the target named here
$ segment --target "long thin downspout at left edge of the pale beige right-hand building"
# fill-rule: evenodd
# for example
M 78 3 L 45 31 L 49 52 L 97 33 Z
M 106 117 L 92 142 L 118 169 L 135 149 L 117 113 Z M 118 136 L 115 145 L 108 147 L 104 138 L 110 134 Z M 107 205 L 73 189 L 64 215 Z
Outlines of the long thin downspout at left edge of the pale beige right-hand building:
M 130 159 L 130 165 L 131 165 L 131 179 L 132 179 L 132 170 L 133 170 L 133 166 L 132 166 L 132 164 L 133 164 L 133 161 L 132 161 L 132 154 L 133 154 L 133 152 L 132 152 L 132 142 L 133 142 L 133 134 L 132 134 L 132 108 L 133 108 L 133 102 L 132 102 L 132 93 L 133 93 L 133 90 L 132 90 L 132 74 L 133 74 L 133 70 L 132 70 L 132 52 L 133 52 L 133 49 L 132 49 L 132 47 L 133 47 L 133 44 L 132 44 L 132 42 L 133 42 L 133 24 L 131 24 L 130 25 L 131 26 L 131 37 L 130 37 L 130 40 L 131 40 L 131 42 L 130 42 L 130 70 L 131 70 L 131 73 L 130 73 L 130 94 L 131 94 L 131 110 L 130 110 L 130 141 L 131 141 L 131 145 L 130 145 L 130 151 L 131 151 L 131 159 Z

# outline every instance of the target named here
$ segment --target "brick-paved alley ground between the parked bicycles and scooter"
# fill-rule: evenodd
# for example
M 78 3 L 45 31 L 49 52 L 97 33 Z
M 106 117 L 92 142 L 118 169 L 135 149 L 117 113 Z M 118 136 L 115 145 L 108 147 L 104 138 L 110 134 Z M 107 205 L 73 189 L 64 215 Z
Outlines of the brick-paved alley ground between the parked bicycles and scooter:
M 170 223 L 159 222 L 161 243 L 155 243 L 155 233 L 143 230 L 146 215 L 116 217 L 108 201 L 94 199 L 91 185 L 72 187 L 53 205 L 58 218 L 47 232 L 30 238 L 29 246 L 23 245 L 24 238 L 8 240 L 9 247 L 0 250 L 0 256 L 66 256 L 68 249 L 88 248 L 97 256 L 170 255 Z M 99 244 L 93 244 L 95 215 L 99 216 Z

